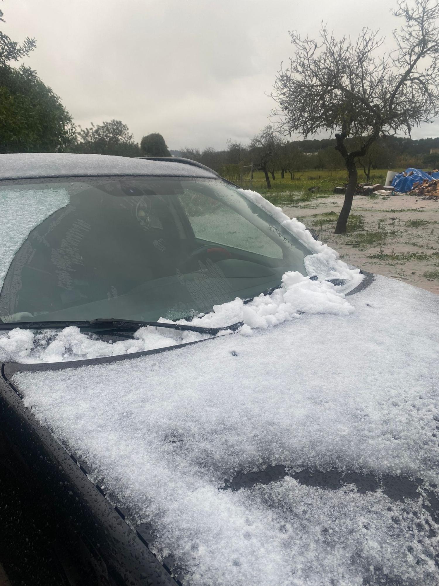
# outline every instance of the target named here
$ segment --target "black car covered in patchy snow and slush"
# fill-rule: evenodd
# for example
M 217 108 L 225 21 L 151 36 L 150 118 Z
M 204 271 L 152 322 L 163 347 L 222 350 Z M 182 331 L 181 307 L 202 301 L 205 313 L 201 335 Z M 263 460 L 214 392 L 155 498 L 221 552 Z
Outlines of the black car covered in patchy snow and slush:
M 438 584 L 437 295 L 179 159 L 0 155 L 0 214 L 12 584 Z

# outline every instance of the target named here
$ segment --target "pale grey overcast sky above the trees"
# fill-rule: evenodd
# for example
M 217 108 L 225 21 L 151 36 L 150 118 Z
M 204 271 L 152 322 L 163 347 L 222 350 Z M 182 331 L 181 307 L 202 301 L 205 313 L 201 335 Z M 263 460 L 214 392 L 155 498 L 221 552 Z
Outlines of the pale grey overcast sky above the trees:
M 225 148 L 269 122 L 270 93 L 288 31 L 337 35 L 362 26 L 390 38 L 390 0 L 5 0 L 2 30 L 35 37 L 25 59 L 76 124 L 116 118 L 137 141 L 163 134 L 170 149 Z M 439 135 L 439 124 L 413 138 Z

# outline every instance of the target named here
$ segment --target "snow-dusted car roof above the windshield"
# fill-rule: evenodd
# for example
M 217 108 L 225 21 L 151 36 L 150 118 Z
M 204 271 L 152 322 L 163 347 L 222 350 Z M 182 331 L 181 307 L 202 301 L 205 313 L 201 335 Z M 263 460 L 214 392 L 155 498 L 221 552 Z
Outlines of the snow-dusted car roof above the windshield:
M 18 153 L 0 155 L 0 180 L 145 175 L 217 179 L 214 171 L 191 163 L 127 156 L 72 153 Z

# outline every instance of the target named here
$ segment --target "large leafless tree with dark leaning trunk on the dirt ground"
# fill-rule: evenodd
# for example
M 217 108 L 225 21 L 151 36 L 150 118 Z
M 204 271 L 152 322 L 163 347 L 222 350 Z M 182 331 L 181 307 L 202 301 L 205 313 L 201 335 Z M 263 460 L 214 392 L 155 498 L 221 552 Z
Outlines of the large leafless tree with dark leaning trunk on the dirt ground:
M 439 114 L 439 3 L 400 0 L 393 11 L 403 25 L 393 32 L 397 49 L 383 52 L 378 32 L 363 29 L 358 39 L 335 39 L 322 25 L 320 40 L 290 32 L 296 52 L 277 74 L 273 97 L 280 128 L 304 137 L 335 134 L 345 161 L 348 188 L 335 233 L 346 231 L 358 171 L 381 135 L 406 132 Z M 349 150 L 346 139 L 359 137 Z

